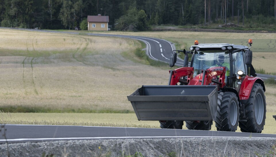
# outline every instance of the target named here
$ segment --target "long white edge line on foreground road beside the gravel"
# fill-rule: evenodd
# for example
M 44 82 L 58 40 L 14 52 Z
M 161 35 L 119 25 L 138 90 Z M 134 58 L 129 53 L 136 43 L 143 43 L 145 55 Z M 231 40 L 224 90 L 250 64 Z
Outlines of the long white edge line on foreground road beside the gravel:
M 231 137 L 231 136 L 130 136 L 130 137 L 82 137 L 82 138 L 18 138 L 0 140 L 5 141 L 26 141 L 26 140 L 84 140 L 84 139 L 107 139 L 107 138 L 271 138 L 271 137 Z

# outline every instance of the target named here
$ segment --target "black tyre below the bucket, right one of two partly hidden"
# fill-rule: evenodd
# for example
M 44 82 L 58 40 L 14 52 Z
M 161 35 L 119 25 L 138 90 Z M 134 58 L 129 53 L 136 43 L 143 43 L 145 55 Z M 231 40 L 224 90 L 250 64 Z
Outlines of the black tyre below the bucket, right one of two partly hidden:
M 213 121 L 185 121 L 186 127 L 190 130 L 211 130 Z

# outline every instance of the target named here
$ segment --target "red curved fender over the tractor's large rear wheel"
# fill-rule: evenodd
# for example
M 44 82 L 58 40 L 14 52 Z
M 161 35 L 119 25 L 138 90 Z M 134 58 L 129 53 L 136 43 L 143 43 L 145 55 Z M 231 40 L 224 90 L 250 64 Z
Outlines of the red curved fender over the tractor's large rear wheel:
M 242 103 L 246 103 L 246 101 L 249 99 L 254 83 L 259 83 L 265 91 L 264 81 L 262 81 L 262 79 L 258 77 L 245 76 L 239 89 L 239 99 L 242 101 Z

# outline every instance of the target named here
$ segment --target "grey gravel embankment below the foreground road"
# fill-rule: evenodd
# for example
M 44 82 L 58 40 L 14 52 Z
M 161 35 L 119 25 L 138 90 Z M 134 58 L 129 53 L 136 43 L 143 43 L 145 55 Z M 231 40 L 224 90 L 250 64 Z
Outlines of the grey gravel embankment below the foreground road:
M 266 156 L 275 138 L 75 140 L 9 144 L 10 156 Z M 7 144 L 0 145 L 7 156 Z

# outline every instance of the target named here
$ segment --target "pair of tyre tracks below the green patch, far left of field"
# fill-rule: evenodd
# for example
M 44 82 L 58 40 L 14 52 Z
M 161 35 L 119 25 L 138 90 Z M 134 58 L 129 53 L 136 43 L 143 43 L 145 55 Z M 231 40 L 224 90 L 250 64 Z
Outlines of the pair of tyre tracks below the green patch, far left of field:
M 34 82 L 34 68 L 33 68 L 33 62 L 34 57 L 32 57 L 30 64 L 27 62 L 30 60 L 30 57 L 26 57 L 22 64 L 23 64 L 23 88 L 25 95 L 28 95 L 28 93 L 35 93 L 38 95 L 37 88 Z

